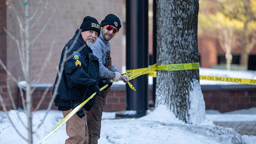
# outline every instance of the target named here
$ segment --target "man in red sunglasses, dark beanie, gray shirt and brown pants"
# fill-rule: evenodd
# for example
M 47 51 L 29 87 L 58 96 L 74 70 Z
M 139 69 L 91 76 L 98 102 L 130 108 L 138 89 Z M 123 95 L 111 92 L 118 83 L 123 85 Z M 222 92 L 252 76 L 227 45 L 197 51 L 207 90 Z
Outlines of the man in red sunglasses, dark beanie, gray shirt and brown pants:
M 129 77 L 121 75 L 118 69 L 112 65 L 110 57 L 110 43 L 111 40 L 121 28 L 119 18 L 114 14 L 108 14 L 100 23 L 101 32 L 99 38 L 91 46 L 93 54 L 97 56 L 100 64 L 100 78 L 103 80 L 122 80 L 128 82 Z M 101 117 L 104 105 L 106 103 L 106 96 L 110 88 L 103 90 L 96 97 L 95 103 L 91 111 L 86 111 L 87 124 L 89 132 L 89 144 L 97 144 L 100 138 Z

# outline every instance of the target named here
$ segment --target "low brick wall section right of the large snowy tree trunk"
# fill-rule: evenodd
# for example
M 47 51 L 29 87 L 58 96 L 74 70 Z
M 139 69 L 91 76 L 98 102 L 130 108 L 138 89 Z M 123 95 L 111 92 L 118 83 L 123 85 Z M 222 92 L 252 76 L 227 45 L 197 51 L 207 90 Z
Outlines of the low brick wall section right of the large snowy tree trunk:
M 256 86 L 202 86 L 206 109 L 228 112 L 256 106 Z

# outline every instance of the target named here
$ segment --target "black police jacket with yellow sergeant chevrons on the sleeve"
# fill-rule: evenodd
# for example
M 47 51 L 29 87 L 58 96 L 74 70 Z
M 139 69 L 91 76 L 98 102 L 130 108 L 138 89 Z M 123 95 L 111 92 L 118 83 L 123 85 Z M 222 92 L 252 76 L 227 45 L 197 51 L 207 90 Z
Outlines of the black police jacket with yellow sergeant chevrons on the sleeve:
M 81 34 L 79 34 L 78 40 L 74 42 L 78 31 L 79 30 L 76 30 L 73 38 L 68 41 L 61 53 L 59 70 L 66 47 L 68 48 L 67 57 L 70 56 L 71 58 L 66 60 L 64 64 L 64 70 L 58 86 L 58 93 L 54 99 L 55 106 L 58 106 L 58 110 L 69 110 L 72 102 L 81 103 L 82 100 L 86 100 L 94 93 L 94 86 L 98 85 L 98 58 L 94 55 L 90 55 L 92 54 L 92 50 L 86 45 Z M 72 45 L 74 45 L 73 48 Z M 84 48 L 78 52 L 78 49 L 81 47 Z M 53 92 L 58 79 L 57 74 Z M 86 110 L 90 110 L 94 104 L 95 97 L 96 96 L 94 96 L 94 100 L 92 99 L 86 103 L 84 106 Z

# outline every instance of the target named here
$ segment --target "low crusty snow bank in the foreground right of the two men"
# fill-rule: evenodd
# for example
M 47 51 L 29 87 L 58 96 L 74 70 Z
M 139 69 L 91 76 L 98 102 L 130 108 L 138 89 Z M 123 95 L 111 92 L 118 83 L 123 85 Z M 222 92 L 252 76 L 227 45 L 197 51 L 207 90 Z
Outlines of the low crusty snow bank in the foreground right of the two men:
M 103 120 L 99 144 L 245 144 L 231 128 L 140 119 Z

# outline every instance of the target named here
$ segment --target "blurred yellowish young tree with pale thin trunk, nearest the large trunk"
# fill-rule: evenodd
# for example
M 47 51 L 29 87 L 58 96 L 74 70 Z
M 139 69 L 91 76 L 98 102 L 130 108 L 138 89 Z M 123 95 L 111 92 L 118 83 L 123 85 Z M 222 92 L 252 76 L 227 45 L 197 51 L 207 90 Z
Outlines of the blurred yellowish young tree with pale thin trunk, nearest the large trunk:
M 239 32 L 242 22 L 232 20 L 216 10 L 216 1 L 201 1 L 198 14 L 198 33 L 201 37 L 208 36 L 218 40 L 225 52 L 226 68 L 231 69 L 232 52 L 239 46 Z M 211 9 L 211 8 L 215 9 Z

